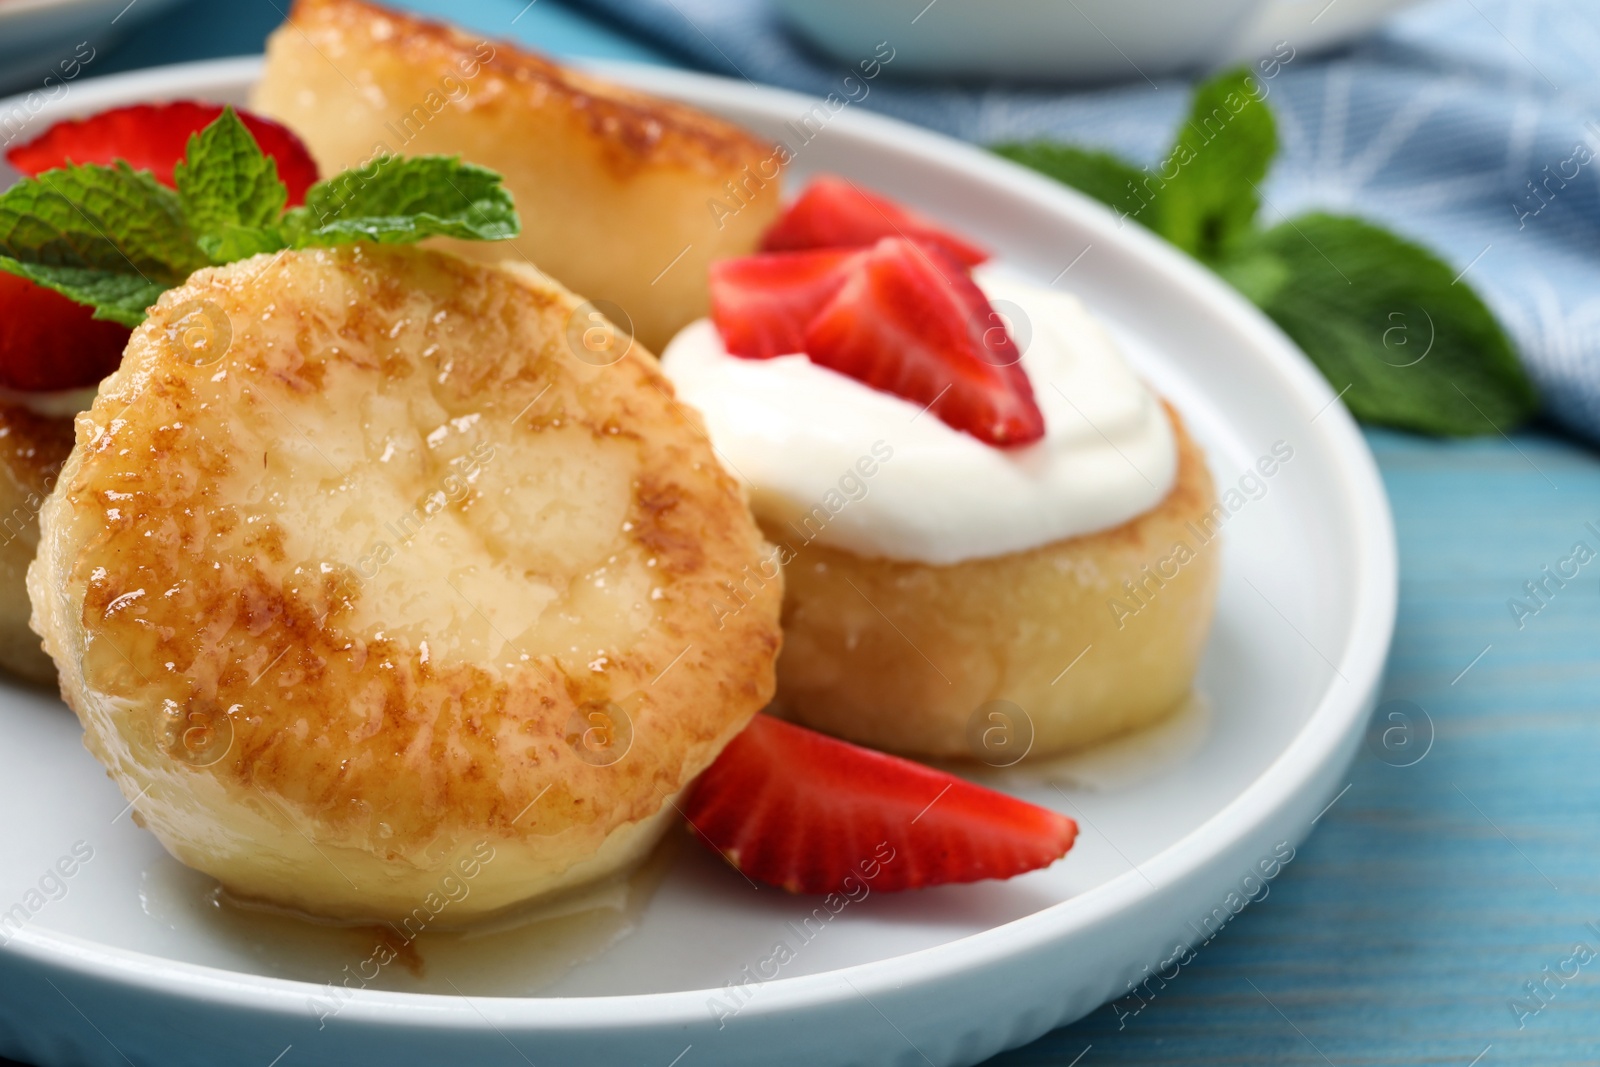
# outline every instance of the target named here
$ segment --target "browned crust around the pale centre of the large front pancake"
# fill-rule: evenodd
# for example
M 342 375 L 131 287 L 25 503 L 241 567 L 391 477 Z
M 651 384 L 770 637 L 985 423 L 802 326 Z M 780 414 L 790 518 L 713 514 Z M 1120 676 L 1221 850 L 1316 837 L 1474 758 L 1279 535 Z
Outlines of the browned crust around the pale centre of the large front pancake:
M 114 771 L 125 745 L 144 773 L 171 771 L 173 753 L 162 752 L 170 717 L 226 720 L 227 758 L 181 773 L 216 777 L 267 811 L 286 805 L 323 841 L 371 849 L 389 840 L 395 854 L 461 832 L 610 832 L 654 813 L 766 702 L 779 646 L 776 587 L 725 627 L 706 606 L 763 545 L 698 419 L 637 346 L 605 373 L 574 374 L 565 320 L 576 299 L 530 283 L 531 272 L 414 248 L 290 256 L 322 264 L 309 288 L 270 290 L 272 315 L 294 323 L 290 346 L 235 342 L 224 384 L 174 360 L 165 342 L 174 306 L 203 298 L 245 323 L 266 299 L 251 291 L 259 261 L 203 270 L 163 296 L 78 419 L 77 453 L 46 515 L 35 606 L 91 747 Z M 330 306 L 315 272 L 334 288 L 349 280 L 362 301 Z M 419 293 L 437 318 L 414 317 Z M 270 514 L 251 525 L 248 506 L 219 496 L 242 464 L 266 462 L 230 429 L 267 418 L 256 397 L 317 394 L 331 363 L 363 358 L 341 338 L 392 338 L 394 323 L 418 323 L 413 347 L 438 341 L 482 357 L 435 390 L 446 410 L 477 405 L 506 421 L 522 411 L 509 432 L 578 426 L 637 456 L 629 536 L 656 560 L 661 608 L 603 673 L 573 672 L 557 649 L 530 648 L 531 662 L 507 670 L 354 630 L 350 568 L 286 558 Z M 374 376 L 421 370 L 398 342 L 366 358 L 362 371 Z M 573 713 L 627 707 L 630 694 L 629 757 L 578 758 Z M 152 829 L 163 832 L 154 819 Z

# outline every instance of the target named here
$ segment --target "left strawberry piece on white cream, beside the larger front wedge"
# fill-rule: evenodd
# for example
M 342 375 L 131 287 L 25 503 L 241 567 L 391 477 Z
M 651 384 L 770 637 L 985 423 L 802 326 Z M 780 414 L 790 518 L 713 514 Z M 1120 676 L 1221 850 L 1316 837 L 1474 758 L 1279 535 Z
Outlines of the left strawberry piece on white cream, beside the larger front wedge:
M 805 350 L 805 330 L 861 253 L 770 253 L 710 266 L 710 317 L 728 352 L 770 360 Z

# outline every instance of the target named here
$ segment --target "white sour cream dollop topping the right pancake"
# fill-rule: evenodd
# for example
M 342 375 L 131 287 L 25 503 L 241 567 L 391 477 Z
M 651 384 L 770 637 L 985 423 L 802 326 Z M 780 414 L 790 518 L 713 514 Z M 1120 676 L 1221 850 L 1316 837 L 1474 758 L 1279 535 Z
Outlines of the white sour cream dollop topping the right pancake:
M 667 346 L 662 370 L 779 541 L 949 565 L 1117 526 L 1171 490 L 1171 422 L 1083 304 L 992 270 L 974 278 L 1011 320 L 1045 416 L 1043 440 L 1024 448 L 986 445 L 805 355 L 730 355 L 706 318 Z

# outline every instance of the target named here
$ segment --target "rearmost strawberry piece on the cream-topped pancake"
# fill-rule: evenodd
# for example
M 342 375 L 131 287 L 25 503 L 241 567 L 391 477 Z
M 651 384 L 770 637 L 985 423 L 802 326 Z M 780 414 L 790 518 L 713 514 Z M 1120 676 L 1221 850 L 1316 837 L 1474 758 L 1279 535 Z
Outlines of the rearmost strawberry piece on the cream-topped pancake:
M 885 237 L 936 245 L 968 267 L 989 259 L 987 251 L 933 219 L 832 174 L 811 179 L 800 198 L 766 230 L 762 251 L 866 248 Z

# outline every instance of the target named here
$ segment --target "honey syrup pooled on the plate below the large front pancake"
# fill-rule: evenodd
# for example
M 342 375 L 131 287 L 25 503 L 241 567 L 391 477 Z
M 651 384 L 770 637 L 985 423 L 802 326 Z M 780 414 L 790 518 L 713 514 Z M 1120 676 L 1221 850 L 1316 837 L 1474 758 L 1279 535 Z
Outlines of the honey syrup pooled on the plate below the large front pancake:
M 227 966 L 320 989 L 322 1021 L 357 990 L 526 997 L 627 937 L 672 869 L 683 833 L 667 833 L 634 872 L 450 929 L 336 923 L 238 901 L 213 878 L 165 859 L 144 872 L 146 915 L 198 929 Z

